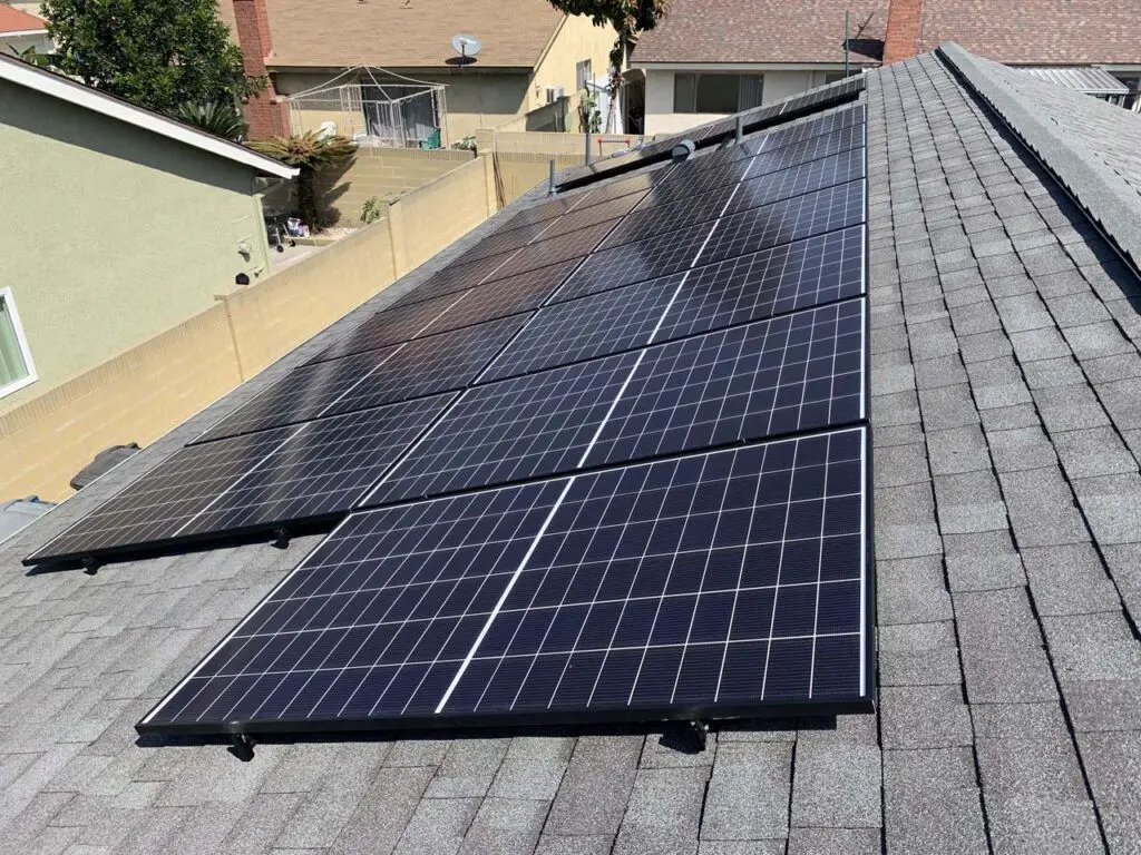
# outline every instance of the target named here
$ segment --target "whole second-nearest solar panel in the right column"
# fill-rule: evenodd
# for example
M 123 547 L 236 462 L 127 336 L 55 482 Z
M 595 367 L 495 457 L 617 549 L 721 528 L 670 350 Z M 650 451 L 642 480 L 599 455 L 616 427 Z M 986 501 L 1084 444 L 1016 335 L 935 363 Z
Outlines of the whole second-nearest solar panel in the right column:
M 848 424 L 864 413 L 864 302 L 469 390 L 362 503 Z

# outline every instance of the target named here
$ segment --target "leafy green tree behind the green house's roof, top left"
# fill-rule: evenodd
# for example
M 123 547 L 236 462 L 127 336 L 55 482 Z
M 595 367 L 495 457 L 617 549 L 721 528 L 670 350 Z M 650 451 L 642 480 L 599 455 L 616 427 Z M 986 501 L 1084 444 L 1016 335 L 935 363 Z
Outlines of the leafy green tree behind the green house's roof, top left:
M 172 113 L 265 88 L 244 75 L 216 0 L 44 0 L 43 14 L 52 64 L 132 104 Z

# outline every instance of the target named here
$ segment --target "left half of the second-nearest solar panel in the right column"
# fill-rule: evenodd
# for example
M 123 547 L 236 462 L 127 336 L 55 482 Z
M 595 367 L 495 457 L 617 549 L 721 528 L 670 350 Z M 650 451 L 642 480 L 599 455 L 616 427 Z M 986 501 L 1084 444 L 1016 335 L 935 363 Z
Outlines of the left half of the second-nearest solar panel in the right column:
M 637 360 L 622 353 L 468 390 L 362 506 L 576 469 Z

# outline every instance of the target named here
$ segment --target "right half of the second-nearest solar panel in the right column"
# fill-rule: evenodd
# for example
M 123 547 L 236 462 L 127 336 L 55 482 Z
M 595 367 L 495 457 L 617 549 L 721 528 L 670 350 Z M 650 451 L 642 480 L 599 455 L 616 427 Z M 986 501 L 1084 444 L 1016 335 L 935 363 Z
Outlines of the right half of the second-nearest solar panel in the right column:
M 642 351 L 585 465 L 856 422 L 864 416 L 864 301 Z

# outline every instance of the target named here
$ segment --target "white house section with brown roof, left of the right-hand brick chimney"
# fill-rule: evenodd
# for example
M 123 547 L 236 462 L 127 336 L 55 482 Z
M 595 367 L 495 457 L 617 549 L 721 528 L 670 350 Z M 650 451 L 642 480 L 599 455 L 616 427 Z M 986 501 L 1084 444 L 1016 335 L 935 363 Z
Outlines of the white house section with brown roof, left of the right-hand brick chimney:
M 639 39 L 646 132 L 671 133 L 880 64 L 888 0 L 673 0 Z

